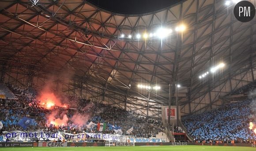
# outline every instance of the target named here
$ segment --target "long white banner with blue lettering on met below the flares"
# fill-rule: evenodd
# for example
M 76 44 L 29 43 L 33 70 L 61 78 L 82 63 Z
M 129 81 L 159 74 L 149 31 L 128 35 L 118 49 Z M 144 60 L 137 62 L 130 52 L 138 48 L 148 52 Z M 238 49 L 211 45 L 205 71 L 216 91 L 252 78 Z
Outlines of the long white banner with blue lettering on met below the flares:
M 23 132 L 23 131 L 4 131 L 3 136 L 0 137 L 0 141 L 35 141 L 35 140 L 61 140 L 64 139 L 69 141 L 85 141 L 85 140 L 115 140 L 119 141 L 120 136 L 114 134 L 102 134 L 102 133 L 65 133 L 65 132 L 47 132 L 47 131 L 34 131 L 34 132 Z

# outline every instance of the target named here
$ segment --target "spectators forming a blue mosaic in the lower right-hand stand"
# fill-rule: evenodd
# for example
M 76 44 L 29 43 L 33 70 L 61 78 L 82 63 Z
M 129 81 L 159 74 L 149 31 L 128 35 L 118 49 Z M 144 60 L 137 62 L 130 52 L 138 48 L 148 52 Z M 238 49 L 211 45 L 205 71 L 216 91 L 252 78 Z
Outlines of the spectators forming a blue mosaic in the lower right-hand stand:
M 248 142 L 256 140 L 253 130 L 249 129 L 253 99 L 230 103 L 202 114 L 194 114 L 182 119 L 194 141 Z M 253 122 L 253 121 L 252 121 Z

